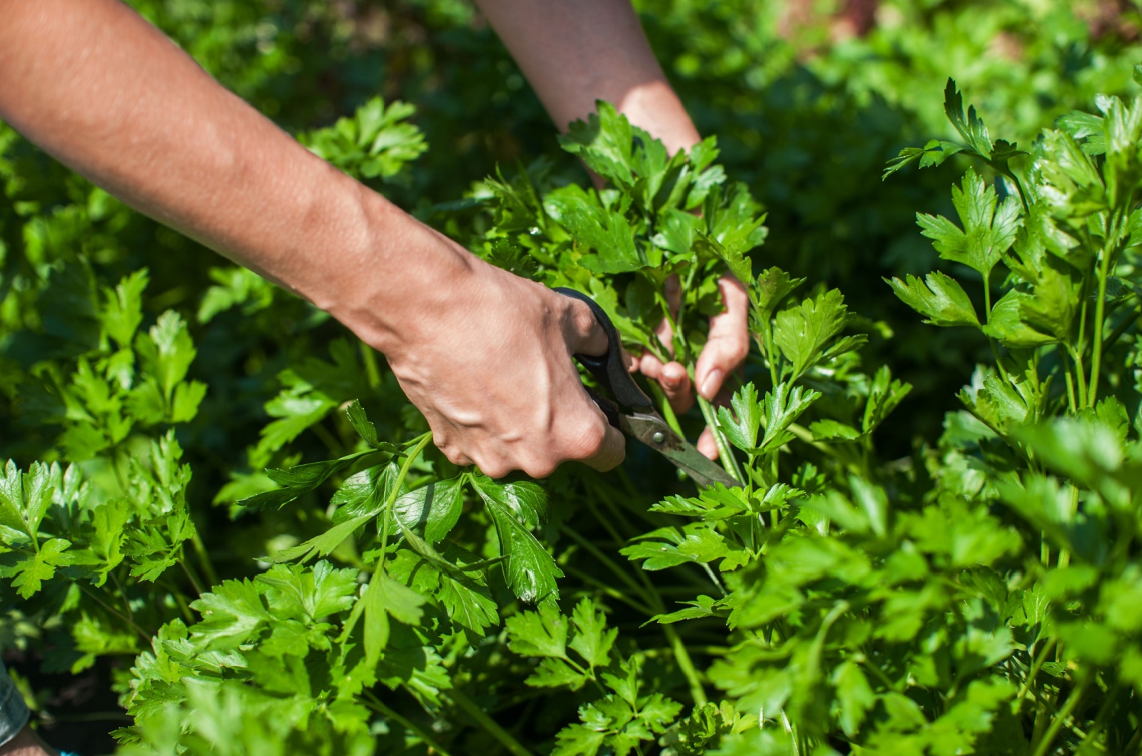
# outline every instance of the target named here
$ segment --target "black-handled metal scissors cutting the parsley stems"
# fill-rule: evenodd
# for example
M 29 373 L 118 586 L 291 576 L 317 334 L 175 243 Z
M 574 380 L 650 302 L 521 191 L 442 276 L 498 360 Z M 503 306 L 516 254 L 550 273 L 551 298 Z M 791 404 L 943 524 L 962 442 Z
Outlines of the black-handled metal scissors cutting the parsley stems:
M 598 409 L 603 410 L 608 421 L 624 434 L 637 439 L 669 459 L 675 467 L 683 471 L 699 485 L 722 483 L 727 488 L 741 488 L 741 483 L 733 480 L 722 467 L 710 461 L 693 444 L 675 433 L 654 409 L 650 397 L 638 388 L 638 384 L 630 377 L 622 360 L 622 341 L 619 333 L 603 308 L 581 291 L 562 287 L 555 291 L 578 299 L 590 307 L 595 320 L 606 332 L 606 354 L 597 357 L 577 354 L 574 359 L 595 377 L 601 388 L 606 389 L 614 397 L 612 401 L 587 388 L 587 393 L 598 405 Z

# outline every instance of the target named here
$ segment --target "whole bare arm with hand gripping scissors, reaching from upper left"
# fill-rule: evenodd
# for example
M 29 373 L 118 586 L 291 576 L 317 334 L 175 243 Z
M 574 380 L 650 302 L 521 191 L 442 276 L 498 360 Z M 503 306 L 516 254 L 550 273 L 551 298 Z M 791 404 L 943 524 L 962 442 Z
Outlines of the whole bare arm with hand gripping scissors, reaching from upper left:
M 544 476 L 621 460 L 571 361 L 605 348 L 585 305 L 309 154 L 118 0 L 0 0 L 0 118 L 384 352 L 453 461 Z

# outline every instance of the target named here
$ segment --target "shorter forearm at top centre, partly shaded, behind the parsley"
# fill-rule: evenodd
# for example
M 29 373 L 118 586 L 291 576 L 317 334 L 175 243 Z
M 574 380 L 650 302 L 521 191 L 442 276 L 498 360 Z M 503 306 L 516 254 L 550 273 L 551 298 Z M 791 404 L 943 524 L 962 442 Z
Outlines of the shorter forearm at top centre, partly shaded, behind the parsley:
M 561 129 L 605 99 L 670 151 L 699 140 L 629 0 L 476 1 Z

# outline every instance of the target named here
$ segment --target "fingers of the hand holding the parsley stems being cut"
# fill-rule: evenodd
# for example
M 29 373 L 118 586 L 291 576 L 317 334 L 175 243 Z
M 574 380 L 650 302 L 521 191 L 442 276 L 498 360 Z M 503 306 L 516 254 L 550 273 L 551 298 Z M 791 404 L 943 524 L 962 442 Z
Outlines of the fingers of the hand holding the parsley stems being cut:
M 725 378 L 739 370 L 746 361 L 746 355 L 749 354 L 749 295 L 746 292 L 746 287 L 730 274 L 722 276 L 718 289 L 725 309 L 710 317 L 709 340 L 706 341 L 694 364 L 693 385 L 697 385 L 698 394 L 702 399 L 726 404 L 727 397 L 722 392 Z M 667 279 L 666 299 L 670 308 L 677 312 L 682 299 L 678 276 Z M 666 351 L 673 355 L 674 332 L 670 322 L 664 320 L 654 332 Z M 664 364 L 650 352 L 644 352 L 634 359 L 633 370 L 657 380 L 675 412 L 685 412 L 693 407 L 694 395 L 690 376 L 681 362 L 671 361 Z M 717 444 L 709 427 L 699 436 L 698 450 L 710 459 L 717 459 Z

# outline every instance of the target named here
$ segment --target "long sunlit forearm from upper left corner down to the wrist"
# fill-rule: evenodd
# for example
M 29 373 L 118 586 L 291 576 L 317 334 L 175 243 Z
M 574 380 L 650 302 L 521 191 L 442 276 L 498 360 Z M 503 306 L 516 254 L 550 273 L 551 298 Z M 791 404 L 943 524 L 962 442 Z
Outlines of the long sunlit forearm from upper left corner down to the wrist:
M 0 118 L 94 183 L 319 306 L 378 303 L 431 232 L 309 154 L 116 0 L 0 0 Z M 441 247 L 432 264 L 460 266 Z M 455 257 L 453 257 L 455 256 Z M 427 255 L 432 258 L 432 255 Z M 381 295 L 383 296 L 383 295 Z M 384 314 L 384 311 L 381 313 Z

